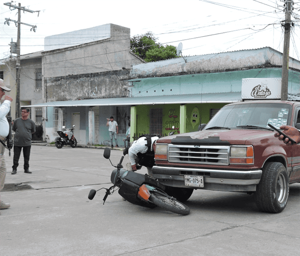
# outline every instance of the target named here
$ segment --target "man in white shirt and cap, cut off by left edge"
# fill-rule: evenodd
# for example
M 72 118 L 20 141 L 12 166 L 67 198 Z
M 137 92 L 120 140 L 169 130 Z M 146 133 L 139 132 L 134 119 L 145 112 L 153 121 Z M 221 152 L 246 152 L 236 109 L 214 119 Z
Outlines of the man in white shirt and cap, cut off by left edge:
M 4 81 L 0 79 L 0 100 L 5 95 L 5 91 L 10 91 L 11 89 L 7 88 L 4 85 Z M 10 103 L 13 99 L 9 95 L 5 95 L 4 102 L 0 103 L 0 140 L 4 142 L 9 132 L 9 124 L 6 119 L 6 115 L 10 110 Z M 4 188 L 4 181 L 6 176 L 6 164 L 5 164 L 5 147 L 0 143 L 0 191 Z M 7 209 L 10 207 L 10 204 L 4 203 L 0 200 L 0 210 Z

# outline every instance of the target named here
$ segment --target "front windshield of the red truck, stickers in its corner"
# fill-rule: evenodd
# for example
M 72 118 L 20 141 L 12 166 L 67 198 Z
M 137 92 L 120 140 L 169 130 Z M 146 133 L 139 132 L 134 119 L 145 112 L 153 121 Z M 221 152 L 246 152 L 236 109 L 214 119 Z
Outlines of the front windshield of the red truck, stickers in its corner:
M 205 126 L 224 128 L 276 128 L 290 123 L 291 106 L 276 103 L 238 104 L 222 107 Z

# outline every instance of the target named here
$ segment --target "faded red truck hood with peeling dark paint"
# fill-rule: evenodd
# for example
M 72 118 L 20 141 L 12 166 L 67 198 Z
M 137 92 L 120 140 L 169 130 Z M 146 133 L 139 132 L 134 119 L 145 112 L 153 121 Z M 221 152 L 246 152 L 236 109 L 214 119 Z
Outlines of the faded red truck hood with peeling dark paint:
M 275 141 L 274 133 L 272 130 L 263 129 L 213 129 L 162 137 L 157 140 L 157 143 L 250 145 L 254 144 L 257 140 L 264 140 L 265 143 Z

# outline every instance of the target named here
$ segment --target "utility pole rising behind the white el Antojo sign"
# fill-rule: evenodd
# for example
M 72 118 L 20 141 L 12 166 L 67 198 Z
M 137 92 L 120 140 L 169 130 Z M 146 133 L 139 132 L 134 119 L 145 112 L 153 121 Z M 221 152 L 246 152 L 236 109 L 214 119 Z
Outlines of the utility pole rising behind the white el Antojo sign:
M 281 100 L 287 100 L 288 81 L 289 81 L 289 51 L 290 51 L 290 32 L 291 32 L 291 12 L 293 0 L 284 0 L 285 20 L 284 24 L 284 42 L 283 42 L 283 60 L 281 75 Z

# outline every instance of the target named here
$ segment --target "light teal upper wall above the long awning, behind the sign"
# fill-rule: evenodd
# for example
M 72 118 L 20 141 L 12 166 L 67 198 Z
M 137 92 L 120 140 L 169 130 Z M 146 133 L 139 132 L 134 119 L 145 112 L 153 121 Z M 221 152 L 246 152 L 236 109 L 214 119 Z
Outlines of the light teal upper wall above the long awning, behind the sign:
M 299 93 L 299 72 L 289 71 L 289 93 Z M 281 68 L 257 68 L 219 73 L 153 77 L 133 82 L 133 97 L 241 91 L 243 78 L 281 77 Z

